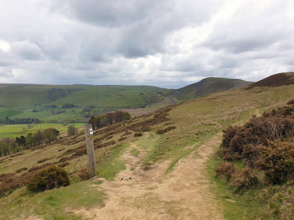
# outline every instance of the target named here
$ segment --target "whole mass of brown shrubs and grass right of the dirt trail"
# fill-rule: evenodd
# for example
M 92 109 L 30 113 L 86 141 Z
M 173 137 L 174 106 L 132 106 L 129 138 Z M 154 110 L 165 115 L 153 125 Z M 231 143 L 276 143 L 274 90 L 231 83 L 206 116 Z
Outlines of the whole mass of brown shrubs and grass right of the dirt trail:
M 293 140 L 294 105 L 265 111 L 242 126 L 223 130 L 218 154 L 224 162 L 215 175 L 253 206 L 265 205 L 259 212 L 253 208 L 257 219 L 294 216 Z

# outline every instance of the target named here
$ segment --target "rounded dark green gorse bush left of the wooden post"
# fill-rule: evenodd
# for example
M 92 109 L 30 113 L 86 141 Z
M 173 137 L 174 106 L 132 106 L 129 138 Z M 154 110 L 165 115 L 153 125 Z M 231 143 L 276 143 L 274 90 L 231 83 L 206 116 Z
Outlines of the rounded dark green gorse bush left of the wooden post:
M 38 192 L 68 185 L 70 185 L 69 177 L 64 168 L 51 165 L 39 170 L 28 182 L 27 188 Z

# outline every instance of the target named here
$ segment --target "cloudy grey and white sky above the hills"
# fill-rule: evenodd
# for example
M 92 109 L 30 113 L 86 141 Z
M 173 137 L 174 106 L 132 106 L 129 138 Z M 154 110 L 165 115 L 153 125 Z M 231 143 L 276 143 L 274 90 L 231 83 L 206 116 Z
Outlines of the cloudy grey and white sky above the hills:
M 1 0 L 0 83 L 258 81 L 294 71 L 294 1 Z

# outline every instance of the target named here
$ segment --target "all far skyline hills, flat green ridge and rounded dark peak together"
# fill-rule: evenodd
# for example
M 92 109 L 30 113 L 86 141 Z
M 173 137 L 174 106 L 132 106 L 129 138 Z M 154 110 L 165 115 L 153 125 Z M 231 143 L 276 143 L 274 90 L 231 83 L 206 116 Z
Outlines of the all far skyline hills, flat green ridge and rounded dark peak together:
M 240 79 L 209 77 L 180 89 L 123 85 L 0 84 L 0 106 L 37 104 L 62 106 L 65 103 L 73 103 L 77 106 L 138 107 L 155 104 L 164 98 L 154 94 L 164 94 L 186 101 L 214 92 L 244 87 L 251 83 Z

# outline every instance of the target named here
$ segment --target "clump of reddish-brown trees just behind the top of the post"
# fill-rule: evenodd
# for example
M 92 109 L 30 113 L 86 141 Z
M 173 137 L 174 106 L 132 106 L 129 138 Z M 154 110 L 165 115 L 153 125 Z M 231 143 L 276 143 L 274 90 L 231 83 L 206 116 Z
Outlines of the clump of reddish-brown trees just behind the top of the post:
M 98 116 L 92 116 L 89 123 L 92 124 L 93 128 L 101 128 L 112 124 L 113 122 L 126 121 L 131 119 L 130 113 L 127 111 L 111 111 L 106 114 L 100 114 Z

